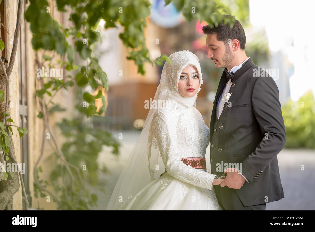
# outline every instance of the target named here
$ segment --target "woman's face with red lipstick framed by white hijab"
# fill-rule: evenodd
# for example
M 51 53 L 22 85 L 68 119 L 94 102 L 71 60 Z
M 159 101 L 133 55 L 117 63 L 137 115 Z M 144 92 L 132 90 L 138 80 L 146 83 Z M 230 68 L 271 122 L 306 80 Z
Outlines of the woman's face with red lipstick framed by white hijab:
M 198 91 L 200 84 L 197 68 L 191 65 L 186 66 L 180 74 L 178 91 L 181 96 L 193 97 Z

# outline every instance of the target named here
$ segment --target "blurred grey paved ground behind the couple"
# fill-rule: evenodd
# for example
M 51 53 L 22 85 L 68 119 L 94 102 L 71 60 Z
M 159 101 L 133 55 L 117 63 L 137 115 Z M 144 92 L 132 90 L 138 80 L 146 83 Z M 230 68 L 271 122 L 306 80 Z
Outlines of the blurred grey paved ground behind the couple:
M 119 133 L 123 133 L 123 139 L 119 139 L 122 143 L 120 158 L 116 159 L 106 147 L 99 155 L 99 162 L 105 163 L 111 174 L 100 176 L 98 188 L 103 186 L 106 194 L 97 192 L 96 210 L 106 209 L 120 172 L 140 135 L 140 131 L 116 131 L 113 136 L 118 139 Z M 209 149 L 207 154 L 209 167 Z M 266 210 L 315 210 L 315 150 L 284 149 L 278 154 L 278 162 L 284 198 L 267 203 Z M 301 171 L 301 165 L 304 165 L 304 171 Z

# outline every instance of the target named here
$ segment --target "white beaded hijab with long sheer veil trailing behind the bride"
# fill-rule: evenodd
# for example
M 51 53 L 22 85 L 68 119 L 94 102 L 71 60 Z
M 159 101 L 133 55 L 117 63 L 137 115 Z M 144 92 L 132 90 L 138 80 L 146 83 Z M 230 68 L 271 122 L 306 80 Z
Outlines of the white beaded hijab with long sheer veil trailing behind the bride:
M 198 57 L 190 51 L 184 50 L 173 53 L 169 59 L 172 64 L 166 61 L 163 66 L 160 84 L 154 96 L 155 102 L 158 100 L 167 102 L 169 99 L 175 99 L 187 107 L 195 107 L 197 94 L 203 83 Z M 188 65 L 197 68 L 200 80 L 198 91 L 193 97 L 181 96 L 178 91 L 181 71 Z M 156 108 L 150 108 L 140 137 L 118 178 L 106 210 L 121 210 L 135 194 L 164 172 L 163 160 L 158 147 L 152 146 L 152 135 L 150 134 L 152 118 L 156 111 Z M 156 165 L 159 167 L 158 170 L 156 170 Z

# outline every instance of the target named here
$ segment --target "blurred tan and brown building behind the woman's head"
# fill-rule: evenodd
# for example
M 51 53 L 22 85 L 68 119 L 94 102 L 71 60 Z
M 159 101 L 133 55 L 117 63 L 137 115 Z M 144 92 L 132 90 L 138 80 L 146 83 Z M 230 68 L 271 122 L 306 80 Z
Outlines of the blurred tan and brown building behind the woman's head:
M 196 22 L 186 24 L 173 4 L 163 7 L 164 1 L 151 2 L 151 15 L 146 19 L 145 32 L 146 46 L 151 58 L 155 60 L 163 54 L 171 55 L 180 50 L 195 53 L 193 42 L 198 38 Z M 138 73 L 134 61 L 126 59 L 127 49 L 119 39 L 122 28 L 117 26 L 118 28 L 109 28 L 102 32 L 104 40 L 97 49 L 100 66 L 106 72 L 109 84 L 106 128 L 132 129 L 135 120 L 141 119 L 144 122 L 149 113 L 149 109 L 145 108 L 145 101 L 154 99 L 163 66 L 154 64 L 152 67 L 146 64 L 145 75 Z M 200 55 L 200 51 L 198 52 Z M 197 108 L 204 119 L 210 122 L 212 102 L 206 97 L 207 79 L 204 78 L 203 81 Z

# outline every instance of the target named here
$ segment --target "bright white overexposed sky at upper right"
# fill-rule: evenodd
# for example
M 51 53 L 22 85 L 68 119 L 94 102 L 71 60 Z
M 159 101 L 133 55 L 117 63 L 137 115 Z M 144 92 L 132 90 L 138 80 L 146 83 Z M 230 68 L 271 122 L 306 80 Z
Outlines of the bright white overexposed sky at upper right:
M 249 0 L 251 24 L 265 27 L 271 52 L 281 51 L 294 66 L 288 74 L 293 101 L 309 90 L 315 94 L 314 9 L 315 1 Z

